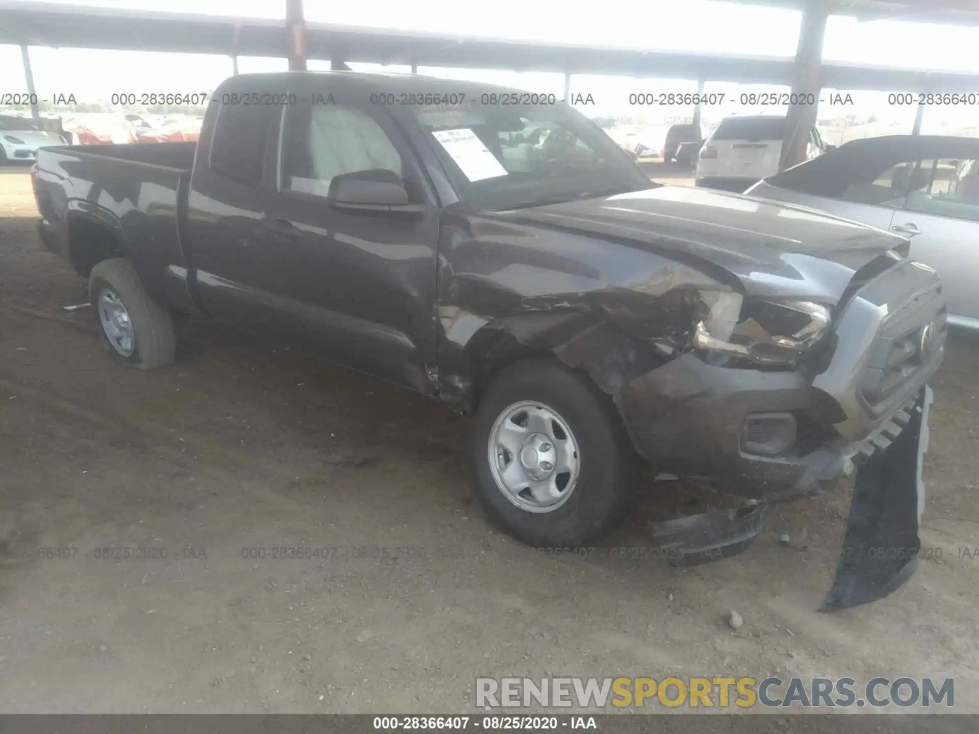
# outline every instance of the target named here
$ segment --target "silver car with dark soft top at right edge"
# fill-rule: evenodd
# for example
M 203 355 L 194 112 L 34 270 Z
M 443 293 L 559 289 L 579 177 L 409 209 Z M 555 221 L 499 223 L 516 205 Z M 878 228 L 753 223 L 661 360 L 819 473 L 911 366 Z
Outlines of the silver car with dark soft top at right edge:
M 821 209 L 910 240 L 910 256 L 942 277 L 949 323 L 979 329 L 979 138 L 853 140 L 745 193 Z

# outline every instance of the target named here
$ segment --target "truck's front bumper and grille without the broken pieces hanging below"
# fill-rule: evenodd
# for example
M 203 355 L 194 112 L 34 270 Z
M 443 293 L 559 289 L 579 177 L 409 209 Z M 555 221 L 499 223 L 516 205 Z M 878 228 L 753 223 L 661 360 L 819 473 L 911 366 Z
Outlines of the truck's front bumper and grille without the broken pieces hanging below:
M 751 500 L 828 489 L 901 434 L 941 364 L 940 281 L 904 260 L 849 299 L 834 332 L 832 357 L 816 376 L 714 366 L 687 353 L 629 381 L 616 402 L 633 444 L 660 471 Z M 746 422 L 760 413 L 792 414 L 795 443 L 776 456 L 744 451 Z

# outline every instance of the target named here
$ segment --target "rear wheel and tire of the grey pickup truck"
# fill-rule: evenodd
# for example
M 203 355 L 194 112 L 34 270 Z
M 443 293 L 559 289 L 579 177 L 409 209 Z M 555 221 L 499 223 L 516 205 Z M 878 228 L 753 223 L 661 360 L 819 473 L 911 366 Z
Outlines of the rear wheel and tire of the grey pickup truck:
M 173 364 L 173 320 L 163 306 L 150 298 L 129 260 L 114 257 L 93 267 L 88 298 L 102 345 L 114 360 L 138 370 Z

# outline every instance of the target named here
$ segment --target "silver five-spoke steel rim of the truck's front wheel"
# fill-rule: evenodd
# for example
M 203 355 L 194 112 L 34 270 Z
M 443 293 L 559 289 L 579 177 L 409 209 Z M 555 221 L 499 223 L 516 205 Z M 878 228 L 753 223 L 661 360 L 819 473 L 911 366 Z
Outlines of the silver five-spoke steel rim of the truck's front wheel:
M 575 491 L 578 442 L 556 410 L 539 402 L 514 403 L 489 432 L 489 469 L 496 487 L 528 512 L 553 512 Z

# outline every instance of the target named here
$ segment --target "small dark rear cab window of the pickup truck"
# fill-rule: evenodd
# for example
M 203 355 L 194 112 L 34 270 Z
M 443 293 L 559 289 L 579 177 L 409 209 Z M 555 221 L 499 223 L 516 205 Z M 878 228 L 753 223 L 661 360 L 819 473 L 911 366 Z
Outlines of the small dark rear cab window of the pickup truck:
M 210 143 L 210 170 L 247 186 L 261 183 L 271 105 L 221 105 Z

